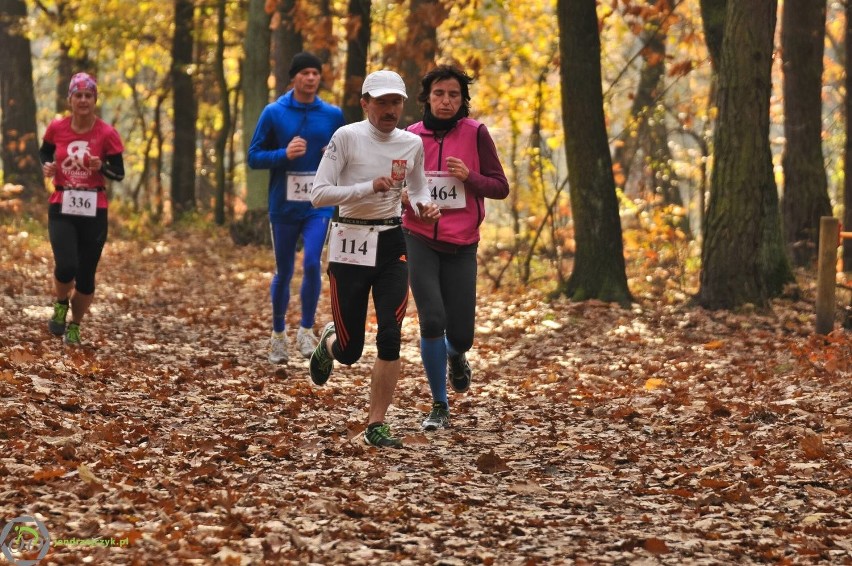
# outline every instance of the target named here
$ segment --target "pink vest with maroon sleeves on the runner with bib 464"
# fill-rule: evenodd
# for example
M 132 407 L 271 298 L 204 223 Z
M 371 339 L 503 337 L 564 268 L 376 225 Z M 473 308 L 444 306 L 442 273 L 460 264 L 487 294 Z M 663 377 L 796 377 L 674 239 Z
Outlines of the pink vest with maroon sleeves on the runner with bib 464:
M 458 157 L 464 161 L 470 175 L 464 182 L 464 208 L 443 209 L 441 219 L 435 224 L 428 224 L 406 207 L 402 215 L 403 228 L 427 239 L 449 244 L 465 246 L 478 242 L 479 225 L 485 219 L 485 199 L 504 199 L 509 195 L 509 181 L 488 129 L 471 118 L 459 120 L 443 139 L 427 130 L 423 122 L 406 129 L 423 140 L 426 171 L 446 171 L 447 157 Z

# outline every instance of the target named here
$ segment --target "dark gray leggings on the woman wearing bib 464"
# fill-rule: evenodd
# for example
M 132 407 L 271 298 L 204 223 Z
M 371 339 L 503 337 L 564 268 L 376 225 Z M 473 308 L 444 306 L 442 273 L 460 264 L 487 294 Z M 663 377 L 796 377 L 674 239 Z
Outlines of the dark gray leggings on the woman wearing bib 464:
M 437 251 L 408 233 L 405 244 L 421 337 L 439 338 L 446 332 L 456 351 L 467 352 L 473 346 L 478 244 Z

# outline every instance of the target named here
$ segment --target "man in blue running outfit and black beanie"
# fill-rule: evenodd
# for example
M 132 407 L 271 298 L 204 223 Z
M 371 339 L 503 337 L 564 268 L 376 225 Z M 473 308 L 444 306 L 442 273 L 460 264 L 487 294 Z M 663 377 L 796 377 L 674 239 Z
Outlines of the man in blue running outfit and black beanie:
M 276 267 L 270 286 L 269 361 L 274 364 L 289 359 L 285 315 L 300 236 L 302 319 L 296 344 L 306 358 L 317 345 L 313 327 L 322 285 L 321 254 L 334 207 L 315 208 L 310 193 L 325 146 L 344 124 L 340 108 L 317 96 L 321 73 L 322 61 L 315 55 L 298 53 L 293 57 L 290 65 L 293 86 L 264 108 L 248 150 L 249 167 L 269 169 L 269 222 Z

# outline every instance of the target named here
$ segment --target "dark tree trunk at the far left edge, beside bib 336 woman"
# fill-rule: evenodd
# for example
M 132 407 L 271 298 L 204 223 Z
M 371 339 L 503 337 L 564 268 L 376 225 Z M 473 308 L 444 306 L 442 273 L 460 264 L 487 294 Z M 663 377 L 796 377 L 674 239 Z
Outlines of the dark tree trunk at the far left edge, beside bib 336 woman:
M 44 176 L 38 158 L 32 52 L 23 29 L 26 17 L 27 5 L 23 0 L 0 0 L 3 181 L 22 185 L 20 197 L 30 201 L 44 190 Z

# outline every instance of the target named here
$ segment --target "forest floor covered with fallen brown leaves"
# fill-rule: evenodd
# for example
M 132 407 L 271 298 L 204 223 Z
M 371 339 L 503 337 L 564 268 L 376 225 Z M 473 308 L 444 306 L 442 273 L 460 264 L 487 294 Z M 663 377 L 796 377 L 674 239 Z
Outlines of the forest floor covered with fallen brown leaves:
M 810 301 L 482 289 L 473 387 L 428 434 L 412 302 L 388 415 L 406 446 L 380 451 L 374 349 L 321 388 L 266 362 L 269 250 L 114 239 L 71 349 L 46 328 L 49 247 L 8 232 L 0 516 L 126 541 L 42 564 L 852 564 L 852 338 L 814 336 Z

